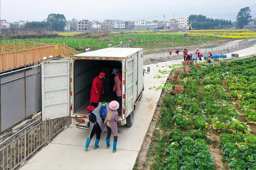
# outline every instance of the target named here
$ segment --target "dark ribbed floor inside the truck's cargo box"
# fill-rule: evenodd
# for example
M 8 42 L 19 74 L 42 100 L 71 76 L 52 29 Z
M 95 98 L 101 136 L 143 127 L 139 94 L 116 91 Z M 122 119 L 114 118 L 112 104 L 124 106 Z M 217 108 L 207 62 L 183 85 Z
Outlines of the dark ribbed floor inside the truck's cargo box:
M 110 91 L 110 92 L 104 92 L 101 96 L 99 101 L 100 102 L 110 102 L 110 101 L 118 101 L 118 97 L 116 96 L 116 92 Z M 75 114 L 88 114 L 87 107 L 90 105 L 90 101 L 86 102 L 84 105 L 82 105 L 80 108 L 75 110 Z M 119 107 L 118 109 L 118 116 L 122 116 L 122 109 Z

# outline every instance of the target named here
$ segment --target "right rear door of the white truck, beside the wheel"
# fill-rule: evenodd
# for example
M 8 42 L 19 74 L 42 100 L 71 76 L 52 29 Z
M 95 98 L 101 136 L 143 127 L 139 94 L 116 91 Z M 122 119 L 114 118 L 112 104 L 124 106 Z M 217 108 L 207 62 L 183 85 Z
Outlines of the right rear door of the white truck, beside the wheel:
M 134 95 L 134 90 L 133 90 L 133 79 L 134 79 L 134 58 L 131 58 L 126 61 L 125 63 L 125 69 L 126 69 L 126 74 L 125 74 L 125 113 L 126 117 L 133 111 L 133 95 Z M 124 117 L 123 117 L 124 118 Z

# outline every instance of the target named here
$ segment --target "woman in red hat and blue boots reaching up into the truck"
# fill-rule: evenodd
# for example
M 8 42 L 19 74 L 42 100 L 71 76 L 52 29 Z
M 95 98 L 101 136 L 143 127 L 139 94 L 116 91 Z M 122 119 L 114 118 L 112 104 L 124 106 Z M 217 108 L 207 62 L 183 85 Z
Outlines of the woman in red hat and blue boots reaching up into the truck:
M 88 150 L 89 144 L 91 142 L 91 139 L 93 138 L 93 136 L 96 134 L 96 141 L 95 141 L 95 146 L 94 149 L 97 149 L 99 147 L 99 140 L 100 140 L 100 134 L 102 132 L 102 126 L 103 126 L 103 122 L 102 119 L 99 115 L 99 111 L 102 107 L 102 102 L 99 102 L 98 107 L 96 107 L 94 109 L 93 106 L 88 106 L 87 110 L 88 110 L 88 119 L 90 122 L 90 131 L 89 131 L 89 135 L 86 141 L 86 145 L 85 145 L 85 150 Z

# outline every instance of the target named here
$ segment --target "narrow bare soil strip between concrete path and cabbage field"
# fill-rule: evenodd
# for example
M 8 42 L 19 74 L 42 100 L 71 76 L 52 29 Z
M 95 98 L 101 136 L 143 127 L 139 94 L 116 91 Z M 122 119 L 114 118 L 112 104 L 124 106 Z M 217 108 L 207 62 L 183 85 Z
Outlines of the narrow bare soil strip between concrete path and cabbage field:
M 164 98 L 166 92 L 162 92 L 160 100 L 157 104 L 156 110 L 154 112 L 154 116 L 152 118 L 151 124 L 149 126 L 146 138 L 144 139 L 143 145 L 141 147 L 141 150 L 139 152 L 137 161 L 136 161 L 136 165 L 137 165 L 137 169 L 150 169 L 151 165 L 152 165 L 152 161 L 151 160 L 147 160 L 147 153 L 149 150 L 149 145 L 151 143 L 151 141 L 155 141 L 157 140 L 155 138 L 155 136 L 153 136 L 153 131 L 156 127 L 156 123 L 158 121 L 158 118 L 160 117 L 160 110 L 163 104 L 163 100 L 162 98 Z M 144 166 L 146 163 L 146 167 Z

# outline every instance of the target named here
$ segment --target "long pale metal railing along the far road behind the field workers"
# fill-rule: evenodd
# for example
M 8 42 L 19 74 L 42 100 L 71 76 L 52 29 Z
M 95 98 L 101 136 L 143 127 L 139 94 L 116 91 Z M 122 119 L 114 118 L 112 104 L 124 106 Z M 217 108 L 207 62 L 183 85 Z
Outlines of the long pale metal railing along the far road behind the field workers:
M 184 49 L 188 49 L 188 54 L 195 55 L 195 49 L 199 48 L 200 53 L 207 55 L 208 51 L 211 51 L 215 55 L 232 53 L 234 51 L 242 50 L 248 47 L 256 45 L 256 36 L 249 36 L 246 39 L 225 43 L 225 44 L 210 44 L 210 45 L 196 45 L 196 46 L 185 46 L 185 47 L 171 47 L 171 48 L 161 48 L 153 50 L 144 50 L 143 62 L 144 65 L 177 60 L 183 58 Z M 191 48 L 193 50 L 191 50 Z M 170 55 L 170 50 L 172 51 Z M 179 50 L 179 53 L 176 54 L 175 51 Z

